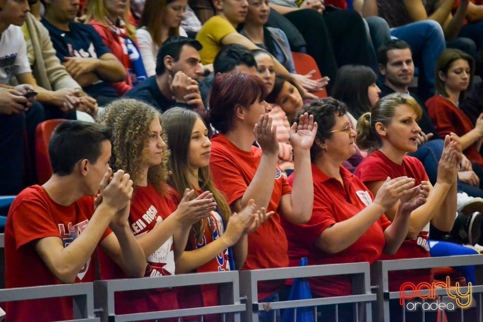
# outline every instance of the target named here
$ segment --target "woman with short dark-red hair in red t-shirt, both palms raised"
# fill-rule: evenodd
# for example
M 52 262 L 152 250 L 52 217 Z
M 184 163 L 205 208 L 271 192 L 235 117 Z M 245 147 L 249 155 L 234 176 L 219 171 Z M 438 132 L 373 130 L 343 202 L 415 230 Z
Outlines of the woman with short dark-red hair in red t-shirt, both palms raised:
M 243 209 L 250 199 L 258 207 L 275 211 L 249 234 L 248 256 L 242 270 L 287 267 L 287 238 L 280 217 L 300 224 L 312 215 L 309 149 L 317 125 L 313 117 L 302 115 L 300 123 L 291 127 L 297 176 L 290 189 L 277 167 L 278 141 L 276 128 L 272 128 L 272 120 L 266 114 L 270 110 L 264 100 L 266 94 L 265 84 L 255 75 L 220 74 L 215 78 L 208 102 L 211 123 L 220 132 L 211 139 L 210 167 L 215 186 L 228 199 L 232 211 Z M 253 145 L 255 140 L 261 148 Z M 282 284 L 283 281 L 259 283 L 259 301 L 276 301 Z

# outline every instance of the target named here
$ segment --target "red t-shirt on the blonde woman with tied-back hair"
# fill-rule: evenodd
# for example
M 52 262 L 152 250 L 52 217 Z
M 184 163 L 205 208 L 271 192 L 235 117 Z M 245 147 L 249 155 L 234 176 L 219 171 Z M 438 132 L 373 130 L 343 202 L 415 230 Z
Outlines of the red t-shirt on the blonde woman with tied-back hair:
M 424 170 L 423 164 L 415 157 L 406 155 L 403 158 L 403 164 L 397 165 L 393 163 L 387 156 L 379 150 L 369 154 L 357 167 L 356 176 L 362 182 L 367 183 L 371 181 L 386 181 L 386 178 L 391 179 L 408 176 L 416 180 L 416 185 L 421 181 L 429 181 L 428 175 Z M 418 234 L 415 239 L 406 239 L 403 245 L 399 247 L 396 254 L 386 255 L 382 254 L 381 260 L 396 260 L 404 258 L 424 258 L 430 257 L 429 245 L 429 222 Z M 389 290 L 398 291 L 399 287 L 404 282 L 431 282 L 433 274 L 431 270 L 407 270 L 389 272 Z

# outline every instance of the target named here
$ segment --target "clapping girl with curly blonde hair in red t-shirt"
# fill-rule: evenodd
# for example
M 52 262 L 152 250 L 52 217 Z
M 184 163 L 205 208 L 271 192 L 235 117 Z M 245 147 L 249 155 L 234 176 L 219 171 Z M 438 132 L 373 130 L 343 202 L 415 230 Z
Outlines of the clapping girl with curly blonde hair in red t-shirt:
M 193 190 L 183 191 L 184 197 L 173 203 L 167 185 L 169 152 L 166 135 L 160 114 L 154 107 L 136 100 L 117 100 L 108 105 L 102 122 L 112 127 L 114 133 L 113 168 L 128 169 L 134 183 L 128 220 L 146 255 L 148 265 L 144 276 L 173 275 L 175 261 L 185 247 L 174 242 L 174 237 L 215 209 L 211 194 L 191 198 Z M 126 277 L 104 253 L 99 252 L 99 259 L 102 279 Z M 135 295 L 132 292 L 116 293 L 116 314 L 177 308 L 177 294 L 173 289 L 140 290 Z

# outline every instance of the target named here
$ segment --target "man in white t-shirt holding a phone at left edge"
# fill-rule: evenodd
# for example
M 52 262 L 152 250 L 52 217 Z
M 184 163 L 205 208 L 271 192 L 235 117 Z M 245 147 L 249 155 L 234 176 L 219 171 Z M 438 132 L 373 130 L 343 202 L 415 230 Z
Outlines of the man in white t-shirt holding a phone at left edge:
M 12 75 L 31 72 L 22 31 L 11 24 L 12 21 L 23 23 L 28 11 L 27 1 L 0 0 L 0 155 L 8 156 L 0 161 L 0 195 L 13 195 L 22 190 L 26 119 L 31 125 L 28 132 L 33 136 L 35 125 L 44 117 L 42 106 L 32 107 L 35 95 L 24 96 L 33 92 L 30 85 L 5 87 Z M 29 109 L 32 111 L 27 117 Z

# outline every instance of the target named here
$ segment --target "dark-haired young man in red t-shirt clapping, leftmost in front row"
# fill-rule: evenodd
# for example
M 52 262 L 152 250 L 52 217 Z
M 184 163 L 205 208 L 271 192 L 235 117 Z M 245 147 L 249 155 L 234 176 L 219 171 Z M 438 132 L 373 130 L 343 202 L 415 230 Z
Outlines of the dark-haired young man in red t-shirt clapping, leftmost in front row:
M 52 177 L 24 189 L 10 207 L 7 288 L 92 282 L 98 245 L 126 275 L 144 275 L 144 252 L 127 221 L 132 181 L 122 170 L 111 176 L 110 137 L 107 127 L 82 121 L 55 129 L 49 142 Z M 8 302 L 5 320 L 71 319 L 71 304 L 65 297 Z

